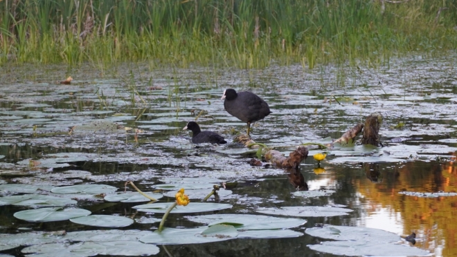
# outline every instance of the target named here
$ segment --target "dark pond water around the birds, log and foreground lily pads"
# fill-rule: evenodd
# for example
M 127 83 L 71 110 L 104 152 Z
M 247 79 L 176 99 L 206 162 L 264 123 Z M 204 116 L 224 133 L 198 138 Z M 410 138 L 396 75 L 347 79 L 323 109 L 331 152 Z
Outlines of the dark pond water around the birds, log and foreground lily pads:
M 233 207 L 217 213 L 260 215 L 256 212 L 260 207 L 326 204 L 352 210 L 344 216 L 304 217 L 306 224 L 293 228 L 303 233 L 296 238 L 159 246 L 158 256 L 333 256 L 307 247 L 326 240 L 304 233 L 316 223 L 384 229 L 400 236 L 415 232 L 415 247 L 435 256 L 457 256 L 457 196 L 425 198 L 399 193 L 457 191 L 455 64 L 456 57 L 414 57 L 389 67 L 325 66 L 311 72 L 301 66 L 265 70 L 167 67 L 151 71 L 147 66 L 126 64 L 105 73 L 91 67 L 2 67 L 0 170 L 4 174 L 0 184 L 57 187 L 95 183 L 122 191 L 125 182 L 133 180 L 140 189 L 153 191 L 154 185 L 170 178 L 219 179 L 238 184 L 232 194 L 219 200 Z M 57 83 L 69 75 L 74 79 L 72 84 Z M 317 198 L 294 196 L 299 173 L 291 178 L 281 169 L 250 166 L 256 150 L 231 142 L 234 131 L 244 133 L 246 124 L 224 111 L 220 97 L 226 88 L 252 91 L 269 103 L 273 113 L 252 127 L 251 137 L 286 154 L 305 142 L 330 142 L 330 137 L 338 138 L 373 112 L 384 116 L 380 131 L 384 147 L 366 149 L 356 144 L 330 149 L 321 162 L 324 172 L 316 170 L 316 161 L 308 157 L 300 171 L 307 188 L 336 192 Z M 340 104 L 325 100 L 333 97 Z M 182 128 L 197 116 L 204 130 L 217 131 L 229 144 L 196 149 Z M 142 131 L 138 142 L 132 131 L 93 133 L 94 120 Z M 87 124 L 92 125 L 84 127 Z M 69 135 L 73 126 L 74 133 Z M 310 148 L 310 155 L 318 152 Z M 64 160 L 47 164 L 45 160 L 53 160 L 56 153 L 62 153 L 59 156 Z M 37 162 L 30 162 L 33 160 Z M 7 171 L 25 171 L 26 175 Z M 63 171 L 86 173 L 60 178 Z M 161 218 L 161 213 L 136 212 L 132 207 L 138 204 L 142 203 L 78 200 L 77 206 L 93 214 Z M 32 223 L 13 217 L 25 209 L 30 207 L 1 206 L 0 232 L 99 229 L 69 221 Z M 186 216 L 170 214 L 165 226 L 201 225 Z M 135 222 L 120 229 L 150 231 L 158 225 Z M 22 256 L 21 248 L 0 253 Z

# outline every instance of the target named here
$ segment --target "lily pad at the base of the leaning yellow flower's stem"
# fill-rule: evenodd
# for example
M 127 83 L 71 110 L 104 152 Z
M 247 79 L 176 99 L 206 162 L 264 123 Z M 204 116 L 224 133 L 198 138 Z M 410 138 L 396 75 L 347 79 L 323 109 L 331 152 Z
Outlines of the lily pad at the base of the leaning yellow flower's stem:
M 156 245 L 188 245 L 188 244 L 201 244 L 204 242 L 216 242 L 236 238 L 235 228 L 221 229 L 219 234 L 217 231 L 210 231 L 208 235 L 202 234 L 208 227 L 198 227 L 194 229 L 173 229 L 165 227 L 161 232 L 154 231 L 154 233 L 143 236 L 140 238 L 141 242 Z M 206 231 L 208 233 L 208 231 Z M 225 234 L 226 233 L 226 234 Z

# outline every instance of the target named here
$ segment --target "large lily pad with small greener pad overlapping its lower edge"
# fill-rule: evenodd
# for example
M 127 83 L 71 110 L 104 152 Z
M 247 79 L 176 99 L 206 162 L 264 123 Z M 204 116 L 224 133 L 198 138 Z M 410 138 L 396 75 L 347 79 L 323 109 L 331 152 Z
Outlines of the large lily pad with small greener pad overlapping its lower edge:
M 252 214 L 210 214 L 186 216 L 186 218 L 192 222 L 208 224 L 208 226 L 216 224 L 232 225 L 239 230 L 288 229 L 306 223 L 306 220 L 300 218 L 278 218 Z

